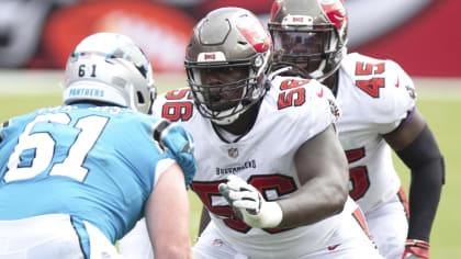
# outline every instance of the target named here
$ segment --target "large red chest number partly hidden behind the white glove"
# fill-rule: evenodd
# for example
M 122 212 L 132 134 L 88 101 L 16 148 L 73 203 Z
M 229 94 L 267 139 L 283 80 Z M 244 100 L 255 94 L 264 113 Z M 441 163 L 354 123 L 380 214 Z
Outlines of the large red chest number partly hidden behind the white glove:
M 217 190 L 217 185 L 220 185 L 220 183 L 222 182 L 225 181 L 193 181 L 191 188 L 199 195 L 200 200 L 202 200 L 203 205 L 206 206 L 211 213 L 224 218 L 223 222 L 228 227 L 240 233 L 248 233 L 251 229 L 251 227 L 248 226 L 245 222 L 243 222 L 239 217 L 237 217 L 237 215 L 235 215 L 231 206 L 216 206 L 212 204 L 213 198 L 222 196 L 220 191 Z M 268 200 L 266 195 L 267 191 L 276 191 L 278 195 L 285 195 L 296 190 L 296 185 L 294 183 L 293 178 L 283 174 L 252 176 L 248 179 L 248 183 L 258 189 L 258 191 L 262 193 L 262 196 L 266 200 Z M 263 230 L 272 234 L 280 233 L 286 229 L 265 228 Z

